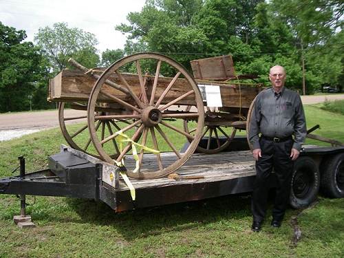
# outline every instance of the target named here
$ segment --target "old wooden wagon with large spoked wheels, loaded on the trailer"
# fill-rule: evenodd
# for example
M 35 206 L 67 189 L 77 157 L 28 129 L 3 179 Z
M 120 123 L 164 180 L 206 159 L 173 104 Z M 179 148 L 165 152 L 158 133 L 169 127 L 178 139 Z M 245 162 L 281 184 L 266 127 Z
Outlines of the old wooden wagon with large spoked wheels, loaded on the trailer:
M 125 158 L 132 178 L 162 177 L 196 149 L 216 153 L 228 147 L 237 129 L 246 128 L 250 104 L 261 90 L 257 83 L 239 81 L 231 56 L 191 61 L 194 77 L 173 59 L 154 53 L 126 56 L 106 69 L 70 62 L 78 69 L 50 80 L 48 97 L 60 103 L 63 136 L 74 149 L 111 164 Z M 68 117 L 67 106 L 83 114 Z M 82 118 L 86 125 L 65 126 Z M 186 139 L 189 145 L 180 151 Z M 139 149 L 135 155 L 131 142 L 160 153 Z M 152 155 L 156 162 L 149 162 Z

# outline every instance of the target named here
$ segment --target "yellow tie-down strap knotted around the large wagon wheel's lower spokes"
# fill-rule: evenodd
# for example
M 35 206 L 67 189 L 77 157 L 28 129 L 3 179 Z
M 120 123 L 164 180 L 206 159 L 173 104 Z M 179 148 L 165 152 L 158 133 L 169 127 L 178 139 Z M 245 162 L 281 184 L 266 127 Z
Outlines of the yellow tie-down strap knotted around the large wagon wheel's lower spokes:
M 131 150 L 133 151 L 133 158 L 134 158 L 134 160 L 136 160 L 136 167 L 133 170 L 133 173 L 137 173 L 140 169 L 138 150 L 136 149 L 136 147 L 139 147 L 140 149 L 145 150 L 145 151 L 149 151 L 151 153 L 160 153 L 160 151 L 157 151 L 155 149 L 151 149 L 147 146 L 144 146 L 142 144 L 134 142 L 133 140 L 131 140 L 131 138 L 129 138 L 129 136 L 127 136 L 125 133 L 123 133 L 122 130 L 117 131 L 115 133 L 115 135 L 118 135 L 118 142 L 120 143 L 120 153 L 122 152 L 122 149 L 123 149 L 123 142 L 131 142 Z M 114 160 L 114 162 L 117 166 L 125 166 L 124 158 L 122 158 L 122 160 L 120 160 L 120 161 Z M 128 188 L 130 190 L 131 199 L 133 199 L 133 201 L 135 201 L 136 193 L 135 193 L 135 188 L 133 187 L 133 184 L 131 184 L 131 182 L 130 182 L 130 180 L 129 180 L 129 178 L 125 172 L 120 172 L 120 175 L 122 175 L 123 180 L 125 180 L 125 184 L 127 184 Z

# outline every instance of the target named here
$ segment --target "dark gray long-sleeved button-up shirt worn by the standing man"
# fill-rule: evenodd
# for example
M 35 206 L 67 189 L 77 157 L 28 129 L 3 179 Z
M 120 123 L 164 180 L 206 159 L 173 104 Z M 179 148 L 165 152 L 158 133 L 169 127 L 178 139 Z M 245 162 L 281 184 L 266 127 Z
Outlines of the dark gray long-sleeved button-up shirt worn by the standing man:
M 283 87 L 277 95 L 270 87 L 258 94 L 248 132 L 253 149 L 260 149 L 259 133 L 278 138 L 294 135 L 292 148 L 300 151 L 307 129 L 301 98 L 297 92 Z

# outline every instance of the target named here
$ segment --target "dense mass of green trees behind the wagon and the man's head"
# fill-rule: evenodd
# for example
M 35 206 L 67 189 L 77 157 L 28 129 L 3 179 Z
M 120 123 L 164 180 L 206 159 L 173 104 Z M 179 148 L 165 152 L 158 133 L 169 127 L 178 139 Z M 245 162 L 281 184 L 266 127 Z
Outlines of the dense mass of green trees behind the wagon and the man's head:
M 232 54 L 237 74 L 259 74 L 268 83 L 268 69 L 283 65 L 287 86 L 299 92 L 304 58 L 312 94 L 323 83 L 341 84 L 343 9 L 338 0 L 149 0 L 116 30 L 128 35 L 127 54 L 161 52 L 189 69 L 193 59 Z

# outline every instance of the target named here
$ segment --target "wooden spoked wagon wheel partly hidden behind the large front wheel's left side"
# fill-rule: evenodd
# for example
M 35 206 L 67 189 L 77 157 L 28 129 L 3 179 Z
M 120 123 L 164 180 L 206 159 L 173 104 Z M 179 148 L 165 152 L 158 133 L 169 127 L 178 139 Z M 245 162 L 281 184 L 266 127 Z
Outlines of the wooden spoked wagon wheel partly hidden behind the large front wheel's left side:
M 65 105 L 66 103 L 59 103 L 58 105 L 58 122 L 60 124 L 61 131 L 63 133 L 63 137 L 67 141 L 70 147 L 78 150 L 83 151 L 89 155 L 93 155 L 96 158 L 100 158 L 98 152 L 94 148 L 92 144 L 91 137 L 89 136 L 88 124 L 87 120 L 83 120 L 87 118 L 87 102 L 79 101 L 74 103 L 69 103 L 71 109 L 80 110 L 80 115 L 78 116 L 68 116 L 65 112 Z M 109 111 L 105 107 L 100 107 L 97 104 L 96 111 L 98 114 L 101 112 Z M 74 125 L 70 125 L 66 127 L 66 122 L 74 122 Z M 95 121 L 95 130 L 98 134 L 100 134 L 101 138 L 105 138 L 113 133 L 113 131 L 120 126 L 120 121 L 118 120 L 97 120 Z M 112 146 L 107 144 L 106 148 L 110 152 L 111 157 L 115 158 L 118 156 L 118 145 L 115 140 L 111 142 Z

